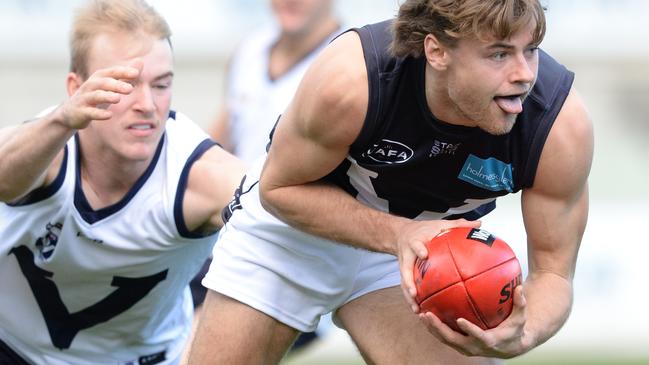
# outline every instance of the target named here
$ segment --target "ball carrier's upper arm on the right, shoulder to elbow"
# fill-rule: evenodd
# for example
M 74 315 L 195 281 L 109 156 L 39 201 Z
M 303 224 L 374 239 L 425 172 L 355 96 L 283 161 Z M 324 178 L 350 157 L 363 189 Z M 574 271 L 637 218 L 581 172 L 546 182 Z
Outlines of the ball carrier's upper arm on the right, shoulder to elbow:
M 593 125 L 579 93 L 572 88 L 541 153 L 534 190 L 568 195 L 586 184 L 593 159 Z

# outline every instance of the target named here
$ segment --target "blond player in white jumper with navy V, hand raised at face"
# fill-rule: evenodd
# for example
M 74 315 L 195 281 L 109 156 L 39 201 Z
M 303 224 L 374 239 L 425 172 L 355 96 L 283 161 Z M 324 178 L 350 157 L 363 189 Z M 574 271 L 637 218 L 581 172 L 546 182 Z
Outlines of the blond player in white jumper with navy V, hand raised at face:
M 242 163 L 170 110 L 170 30 L 93 0 L 69 99 L 0 130 L 0 363 L 176 364 Z

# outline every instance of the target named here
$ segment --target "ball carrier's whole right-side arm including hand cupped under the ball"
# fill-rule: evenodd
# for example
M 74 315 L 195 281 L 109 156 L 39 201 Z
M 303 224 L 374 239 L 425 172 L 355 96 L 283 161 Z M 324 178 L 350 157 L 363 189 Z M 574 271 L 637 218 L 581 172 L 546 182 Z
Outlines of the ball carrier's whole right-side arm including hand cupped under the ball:
M 484 331 L 467 320 L 453 331 L 432 314 L 421 315 L 438 339 L 469 356 L 511 358 L 552 337 L 572 308 L 572 280 L 588 217 L 588 174 L 593 129 L 580 96 L 571 90 L 550 131 L 534 186 L 522 193 L 529 275 L 514 292 L 512 314 Z

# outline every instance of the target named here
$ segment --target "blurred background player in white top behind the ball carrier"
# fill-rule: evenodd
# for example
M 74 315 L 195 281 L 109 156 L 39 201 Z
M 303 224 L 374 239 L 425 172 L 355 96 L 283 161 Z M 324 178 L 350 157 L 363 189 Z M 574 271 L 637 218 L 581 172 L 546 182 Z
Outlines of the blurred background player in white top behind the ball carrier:
M 225 100 L 210 127 L 214 140 L 246 163 L 265 155 L 277 117 L 316 55 L 341 30 L 333 0 L 271 0 L 270 7 L 276 25 L 255 32 L 238 46 L 226 75 Z M 200 280 L 207 267 L 192 281 L 197 305 L 205 297 Z M 322 335 L 323 326 L 301 335 L 293 348 Z

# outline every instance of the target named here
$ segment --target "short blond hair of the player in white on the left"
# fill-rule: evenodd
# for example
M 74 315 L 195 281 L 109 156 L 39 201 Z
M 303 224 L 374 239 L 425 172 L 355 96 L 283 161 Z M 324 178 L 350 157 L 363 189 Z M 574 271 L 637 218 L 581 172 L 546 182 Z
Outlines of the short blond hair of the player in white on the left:
M 70 35 L 70 71 L 88 75 L 88 57 L 99 34 L 142 32 L 171 44 L 167 21 L 145 0 L 89 0 L 77 10 Z

